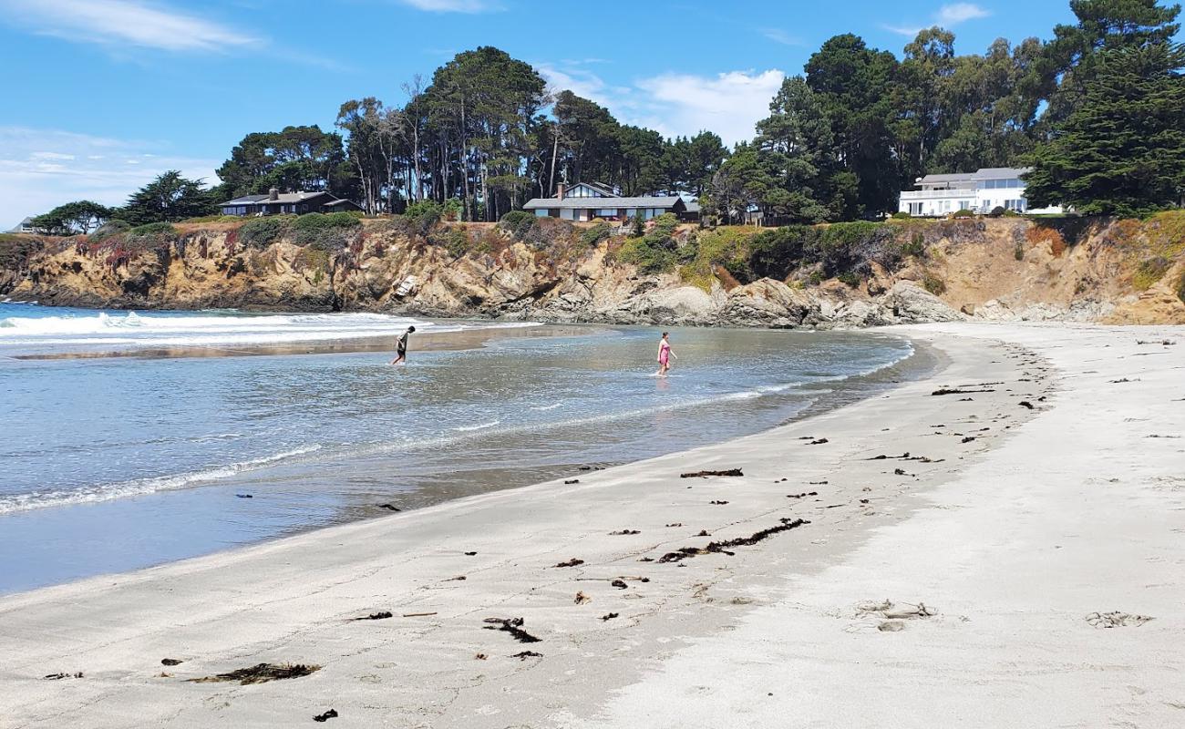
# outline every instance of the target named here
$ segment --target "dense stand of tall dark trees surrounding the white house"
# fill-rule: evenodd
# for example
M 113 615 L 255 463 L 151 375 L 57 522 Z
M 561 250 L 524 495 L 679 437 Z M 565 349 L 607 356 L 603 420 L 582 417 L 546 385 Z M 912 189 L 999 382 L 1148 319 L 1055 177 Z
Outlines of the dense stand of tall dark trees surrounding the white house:
M 786 223 L 872 219 L 929 173 L 1032 167 L 1035 207 L 1141 215 L 1185 196 L 1179 5 L 1071 0 L 1052 39 L 956 56 L 931 27 L 901 59 L 853 34 L 784 79 L 756 135 L 709 186 L 706 209 Z

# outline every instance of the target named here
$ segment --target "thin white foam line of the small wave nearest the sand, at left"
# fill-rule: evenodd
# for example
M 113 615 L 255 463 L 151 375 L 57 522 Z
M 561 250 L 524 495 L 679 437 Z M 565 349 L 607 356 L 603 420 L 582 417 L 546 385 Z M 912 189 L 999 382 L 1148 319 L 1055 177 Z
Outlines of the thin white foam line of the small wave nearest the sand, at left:
M 320 449 L 321 446 L 306 446 L 263 458 L 239 461 L 237 463 L 218 466 L 204 471 L 194 471 L 191 473 L 180 473 L 149 479 L 135 479 L 117 484 L 101 484 L 97 486 L 75 488 L 70 491 L 34 491 L 31 493 L 0 497 L 0 514 L 14 513 L 18 511 L 31 511 L 33 509 L 45 509 L 47 506 L 95 504 L 98 501 L 111 501 L 127 497 L 156 493 L 159 491 L 185 488 L 187 486 L 217 481 L 248 471 L 273 466 L 280 461 L 292 460 L 309 453 L 315 453 Z

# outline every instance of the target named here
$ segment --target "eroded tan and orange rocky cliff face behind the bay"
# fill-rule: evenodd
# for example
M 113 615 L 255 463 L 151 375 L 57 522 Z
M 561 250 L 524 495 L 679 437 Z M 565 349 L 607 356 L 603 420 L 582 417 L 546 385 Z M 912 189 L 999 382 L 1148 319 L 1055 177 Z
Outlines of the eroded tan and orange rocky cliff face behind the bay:
M 341 250 L 287 239 L 244 247 L 226 224 L 180 226 L 174 238 L 139 248 L 81 237 L 47 241 L 23 257 L 0 258 L 0 294 L 116 308 L 376 311 L 615 324 L 1185 322 L 1185 247 L 1174 237 L 1185 237 L 1185 218 L 1178 217 L 1084 223 L 1070 232 L 1007 218 L 925 229 L 924 250 L 904 256 L 892 270 L 872 264 L 856 287 L 837 280 L 802 283 L 801 276 L 739 284 L 723 273 L 691 286 L 675 273 L 643 274 L 617 261 L 620 241 L 613 238 L 545 252 L 480 224 L 463 235 L 482 243 L 456 257 L 446 245 L 366 223 Z M 933 224 L 910 223 L 901 235 L 916 235 L 914 225 Z M 398 296 L 408 276 L 418 286 Z

